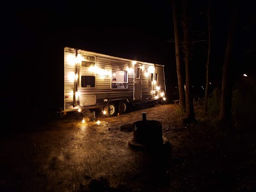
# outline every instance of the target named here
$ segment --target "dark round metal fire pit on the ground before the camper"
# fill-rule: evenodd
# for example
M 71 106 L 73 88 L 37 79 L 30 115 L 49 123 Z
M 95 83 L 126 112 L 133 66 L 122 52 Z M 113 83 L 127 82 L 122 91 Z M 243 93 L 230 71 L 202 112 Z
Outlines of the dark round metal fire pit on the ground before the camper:
M 162 124 L 156 120 L 147 120 L 146 113 L 142 113 L 142 121 L 134 122 L 133 138 L 128 145 L 136 149 L 150 149 L 163 147 L 164 139 Z

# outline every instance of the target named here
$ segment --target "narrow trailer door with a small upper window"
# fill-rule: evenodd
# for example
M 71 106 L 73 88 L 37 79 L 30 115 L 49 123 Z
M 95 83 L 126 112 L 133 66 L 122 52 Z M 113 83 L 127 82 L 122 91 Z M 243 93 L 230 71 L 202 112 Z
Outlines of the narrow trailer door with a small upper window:
M 134 65 L 133 100 L 141 100 L 141 65 Z

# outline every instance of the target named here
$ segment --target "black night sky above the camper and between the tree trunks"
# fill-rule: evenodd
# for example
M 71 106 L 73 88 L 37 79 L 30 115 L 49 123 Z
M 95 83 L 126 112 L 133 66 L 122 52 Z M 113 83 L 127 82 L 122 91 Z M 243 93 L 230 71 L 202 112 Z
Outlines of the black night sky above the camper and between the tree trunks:
M 52 92 L 50 94 L 54 94 L 58 87 L 60 68 L 63 67 L 62 54 L 65 46 L 164 65 L 167 88 L 173 91 L 177 77 L 175 45 L 172 42 L 172 6 L 169 1 L 124 1 L 122 4 L 116 1 L 45 2 L 31 4 L 22 1 L 2 12 L 6 18 L 3 20 L 5 30 L 2 53 L 6 58 L 4 67 L 12 71 L 15 81 L 19 79 L 20 83 L 27 85 L 25 88 L 17 87 L 19 92 L 33 90 L 35 95 L 42 95 L 45 92 L 43 89 L 47 87 Z M 194 14 L 191 25 L 195 29 L 195 36 L 204 33 L 205 27 L 207 28 L 206 2 L 198 0 L 191 6 Z M 229 6 L 225 4 L 226 1 L 214 2 L 212 73 L 221 74 Z M 252 19 L 253 9 L 248 10 L 250 7 L 249 4 L 239 6 L 237 34 L 246 36 L 243 40 L 239 38 L 236 46 L 240 47 L 238 52 L 244 47 L 243 52 L 248 49 L 247 52 L 255 56 L 252 27 L 255 19 Z M 207 31 L 204 34 L 196 36 L 196 40 L 207 39 Z M 248 36 L 254 38 L 248 40 Z M 205 84 L 206 55 L 207 42 L 194 44 L 191 63 L 194 72 L 197 72 L 194 76 L 196 84 Z M 236 61 L 248 63 L 245 58 L 250 60 L 243 53 Z M 5 85 L 6 90 L 9 90 L 10 86 Z M 38 90 L 38 86 L 42 89 Z M 11 92 L 12 90 L 10 89 Z

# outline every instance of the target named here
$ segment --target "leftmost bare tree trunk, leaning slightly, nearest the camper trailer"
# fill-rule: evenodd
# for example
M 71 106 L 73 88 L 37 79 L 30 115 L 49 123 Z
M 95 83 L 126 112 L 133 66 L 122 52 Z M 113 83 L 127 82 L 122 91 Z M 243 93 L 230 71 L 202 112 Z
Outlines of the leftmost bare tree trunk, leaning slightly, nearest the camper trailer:
M 174 38 L 175 38 L 175 56 L 176 56 L 176 67 L 177 67 L 177 79 L 179 86 L 179 103 L 182 108 L 185 110 L 185 90 L 184 83 L 182 78 L 182 65 L 180 63 L 180 38 L 179 38 L 179 27 L 177 19 L 177 6 L 176 0 L 172 0 L 172 15 L 173 15 L 173 27 L 174 27 Z

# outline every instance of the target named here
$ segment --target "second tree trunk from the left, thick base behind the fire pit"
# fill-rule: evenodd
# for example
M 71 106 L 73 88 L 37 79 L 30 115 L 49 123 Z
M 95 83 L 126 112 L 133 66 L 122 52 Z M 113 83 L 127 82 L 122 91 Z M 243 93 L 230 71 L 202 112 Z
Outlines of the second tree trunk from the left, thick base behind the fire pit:
M 188 2 L 183 1 L 184 6 L 184 52 L 185 52 L 185 63 L 186 63 L 186 120 L 184 123 L 196 122 L 195 113 L 194 113 L 194 104 L 193 104 L 193 90 L 191 86 L 191 66 L 189 63 L 190 56 L 190 42 L 189 42 L 189 15 L 188 15 Z

